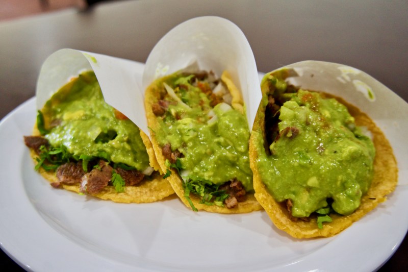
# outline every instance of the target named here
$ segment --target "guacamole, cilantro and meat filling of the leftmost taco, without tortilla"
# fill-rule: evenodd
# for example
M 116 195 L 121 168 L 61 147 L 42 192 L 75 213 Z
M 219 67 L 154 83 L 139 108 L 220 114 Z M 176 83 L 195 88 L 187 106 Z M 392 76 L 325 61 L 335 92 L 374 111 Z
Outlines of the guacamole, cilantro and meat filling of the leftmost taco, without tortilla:
M 59 89 L 38 112 L 37 127 L 43 144 L 36 168 L 56 170 L 60 182 L 81 183 L 83 192 L 103 189 L 93 184 L 102 176 L 105 186 L 109 182 L 120 192 L 153 172 L 139 128 L 105 102 L 93 71 Z

